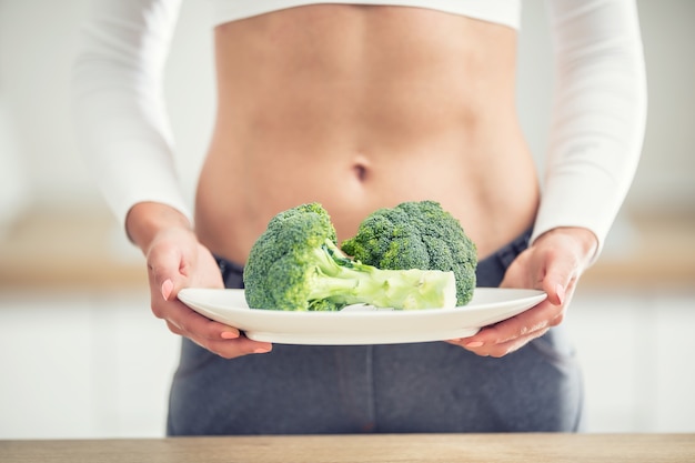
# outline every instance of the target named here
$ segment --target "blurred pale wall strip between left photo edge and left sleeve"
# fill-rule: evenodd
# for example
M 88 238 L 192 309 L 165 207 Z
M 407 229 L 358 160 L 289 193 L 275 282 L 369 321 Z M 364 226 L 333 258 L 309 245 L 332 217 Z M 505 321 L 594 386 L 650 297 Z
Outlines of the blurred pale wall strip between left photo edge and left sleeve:
M 0 101 L 9 114 L 23 199 L 80 203 L 92 183 L 75 155 L 68 83 L 84 1 L 0 1 Z M 3 167 L 0 167 L 2 169 Z

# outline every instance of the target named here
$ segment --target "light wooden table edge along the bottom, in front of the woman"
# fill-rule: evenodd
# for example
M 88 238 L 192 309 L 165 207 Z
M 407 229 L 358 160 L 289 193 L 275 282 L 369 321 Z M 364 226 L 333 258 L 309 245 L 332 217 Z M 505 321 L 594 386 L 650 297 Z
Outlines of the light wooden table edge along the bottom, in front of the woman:
M 371 434 L 0 441 L 2 463 L 695 462 L 695 434 Z

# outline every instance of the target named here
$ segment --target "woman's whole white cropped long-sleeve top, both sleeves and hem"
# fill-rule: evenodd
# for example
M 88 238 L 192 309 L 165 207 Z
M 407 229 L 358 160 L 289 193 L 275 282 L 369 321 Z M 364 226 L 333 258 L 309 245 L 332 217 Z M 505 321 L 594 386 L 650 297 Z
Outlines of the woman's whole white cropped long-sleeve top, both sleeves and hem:
M 311 3 L 211 0 L 213 26 Z M 430 8 L 517 29 L 521 0 L 357 0 Z M 78 138 L 117 218 L 138 202 L 192 213 L 179 185 L 162 73 L 181 0 L 93 0 L 73 74 Z M 603 245 L 634 178 L 646 77 L 634 0 L 546 0 L 556 84 L 532 241 L 583 227 Z M 596 255 L 598 252 L 596 253 Z

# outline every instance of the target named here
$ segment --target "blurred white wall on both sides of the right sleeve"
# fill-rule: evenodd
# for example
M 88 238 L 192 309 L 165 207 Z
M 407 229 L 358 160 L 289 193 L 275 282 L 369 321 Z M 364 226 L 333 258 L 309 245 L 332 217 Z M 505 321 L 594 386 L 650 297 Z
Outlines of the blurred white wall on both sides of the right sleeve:
M 520 42 L 520 117 L 542 162 L 552 66 L 543 1 L 523 1 Z M 695 2 L 637 1 L 648 80 L 644 151 L 625 208 L 695 211 Z

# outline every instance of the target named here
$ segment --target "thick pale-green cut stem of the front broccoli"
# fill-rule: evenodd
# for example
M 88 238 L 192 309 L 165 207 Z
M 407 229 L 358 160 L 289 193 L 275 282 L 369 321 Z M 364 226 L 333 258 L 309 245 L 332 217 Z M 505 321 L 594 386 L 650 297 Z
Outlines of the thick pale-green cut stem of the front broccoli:
M 405 310 L 456 305 L 453 272 L 381 270 L 352 261 L 330 240 L 314 254 L 318 264 L 310 279 L 310 300 Z

